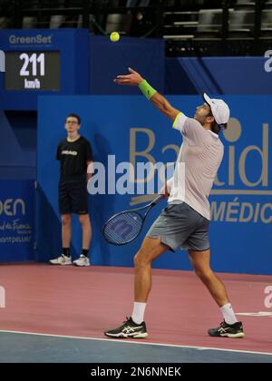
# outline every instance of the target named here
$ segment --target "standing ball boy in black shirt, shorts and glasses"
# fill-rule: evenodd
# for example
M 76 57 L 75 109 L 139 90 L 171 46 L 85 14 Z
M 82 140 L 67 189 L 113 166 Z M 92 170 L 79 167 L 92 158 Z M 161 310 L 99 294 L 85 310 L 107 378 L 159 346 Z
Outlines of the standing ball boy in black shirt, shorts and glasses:
M 61 164 L 59 182 L 59 210 L 62 216 L 63 251 L 52 265 L 71 265 L 72 214 L 76 214 L 83 229 L 83 250 L 73 261 L 75 266 L 90 266 L 88 252 L 92 239 L 92 227 L 88 212 L 87 181 L 92 177 L 92 147 L 78 132 L 81 119 L 70 114 L 65 121 L 67 138 L 58 144 L 56 159 Z

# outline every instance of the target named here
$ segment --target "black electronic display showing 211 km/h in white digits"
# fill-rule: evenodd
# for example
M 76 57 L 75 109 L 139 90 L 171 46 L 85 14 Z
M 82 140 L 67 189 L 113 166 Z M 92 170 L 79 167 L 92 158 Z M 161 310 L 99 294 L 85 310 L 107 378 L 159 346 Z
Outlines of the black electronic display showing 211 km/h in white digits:
M 60 52 L 7 52 L 5 90 L 60 91 Z

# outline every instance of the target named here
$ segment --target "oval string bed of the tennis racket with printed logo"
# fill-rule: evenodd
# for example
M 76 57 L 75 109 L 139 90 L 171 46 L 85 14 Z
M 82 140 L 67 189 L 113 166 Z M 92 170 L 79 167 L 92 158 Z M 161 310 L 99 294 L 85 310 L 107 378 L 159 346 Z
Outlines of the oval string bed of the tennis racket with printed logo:
M 116 245 L 123 245 L 141 232 L 142 217 L 136 212 L 125 212 L 115 216 L 104 227 L 104 237 Z

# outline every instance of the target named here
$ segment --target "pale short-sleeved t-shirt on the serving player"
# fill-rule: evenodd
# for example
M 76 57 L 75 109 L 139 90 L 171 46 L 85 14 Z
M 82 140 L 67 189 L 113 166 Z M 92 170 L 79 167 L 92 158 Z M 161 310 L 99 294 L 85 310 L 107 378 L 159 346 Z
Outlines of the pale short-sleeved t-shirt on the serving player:
M 223 159 L 223 143 L 219 135 L 205 130 L 197 120 L 183 113 L 177 116 L 173 128 L 181 132 L 183 143 L 174 176 L 168 182 L 169 202 L 186 202 L 210 220 L 208 198 Z

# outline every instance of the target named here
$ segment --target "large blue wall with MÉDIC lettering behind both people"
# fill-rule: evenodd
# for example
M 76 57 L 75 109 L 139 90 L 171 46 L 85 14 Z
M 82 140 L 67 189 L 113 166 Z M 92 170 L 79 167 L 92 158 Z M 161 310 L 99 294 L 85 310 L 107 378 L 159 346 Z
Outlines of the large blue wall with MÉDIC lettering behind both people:
M 193 115 L 199 96 L 171 96 L 170 102 Z M 222 135 L 225 158 L 210 197 L 212 266 L 217 271 L 272 274 L 271 96 L 225 96 L 231 109 L 228 132 Z M 180 148 L 180 132 L 142 96 L 41 97 L 38 121 L 37 254 L 46 261 L 61 249 L 61 224 L 57 207 L 59 163 L 57 143 L 65 132 L 63 120 L 77 112 L 82 134 L 92 142 L 95 161 L 108 168 L 108 155 L 121 161 L 172 162 Z M 137 153 L 138 152 L 138 153 Z M 109 174 L 111 183 L 114 171 Z M 118 181 L 122 174 L 116 174 Z M 115 181 L 113 181 L 115 183 Z M 108 184 L 107 184 L 108 185 Z M 102 239 L 102 224 L 112 213 L 147 199 L 131 195 L 90 196 L 94 265 L 132 266 L 133 256 L 163 203 L 152 211 L 139 239 L 117 248 Z M 80 227 L 73 221 L 73 256 L 81 249 Z M 162 269 L 190 269 L 188 255 L 168 252 L 154 262 Z

